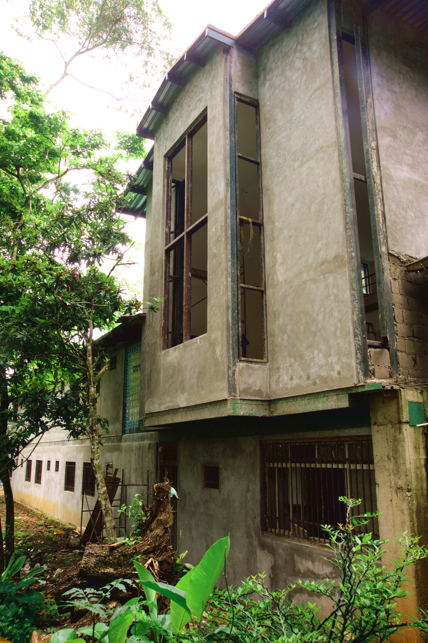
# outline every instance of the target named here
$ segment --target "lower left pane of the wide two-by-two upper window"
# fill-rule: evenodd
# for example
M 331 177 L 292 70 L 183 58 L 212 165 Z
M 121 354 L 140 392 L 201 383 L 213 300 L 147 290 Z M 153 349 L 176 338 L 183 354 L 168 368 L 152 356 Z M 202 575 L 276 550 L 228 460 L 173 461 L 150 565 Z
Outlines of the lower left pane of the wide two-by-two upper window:
M 167 348 L 183 343 L 184 241 L 168 253 L 168 341 Z

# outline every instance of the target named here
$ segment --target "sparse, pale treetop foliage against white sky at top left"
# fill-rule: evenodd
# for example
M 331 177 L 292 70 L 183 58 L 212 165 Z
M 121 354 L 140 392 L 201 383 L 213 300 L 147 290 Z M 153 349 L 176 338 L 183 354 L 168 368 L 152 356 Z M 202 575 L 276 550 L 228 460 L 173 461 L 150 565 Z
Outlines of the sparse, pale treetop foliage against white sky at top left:
M 46 95 L 67 76 L 78 80 L 69 71 L 71 64 L 96 51 L 109 60 L 131 54 L 138 60 L 139 73 L 146 76 L 170 64 L 162 44 L 171 24 L 157 0 L 31 0 L 28 17 L 35 33 L 53 42 L 62 59 L 62 73 Z M 62 52 L 63 37 L 76 42 L 74 51 Z

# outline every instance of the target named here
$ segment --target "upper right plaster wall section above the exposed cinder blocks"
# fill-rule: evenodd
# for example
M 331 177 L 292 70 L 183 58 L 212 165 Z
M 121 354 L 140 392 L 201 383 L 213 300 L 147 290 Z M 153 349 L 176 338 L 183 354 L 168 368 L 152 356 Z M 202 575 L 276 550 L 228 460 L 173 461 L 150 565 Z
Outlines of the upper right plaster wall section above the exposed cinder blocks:
M 378 10 L 371 77 L 389 249 L 428 255 L 428 38 Z

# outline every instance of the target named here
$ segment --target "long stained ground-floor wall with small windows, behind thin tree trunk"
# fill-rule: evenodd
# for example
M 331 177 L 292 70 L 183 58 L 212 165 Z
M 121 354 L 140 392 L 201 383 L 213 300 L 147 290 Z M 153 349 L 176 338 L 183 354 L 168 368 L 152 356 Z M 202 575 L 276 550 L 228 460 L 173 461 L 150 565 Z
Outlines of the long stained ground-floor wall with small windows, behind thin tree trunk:
M 109 440 L 115 440 L 109 442 Z M 122 477 L 125 484 L 136 484 L 128 488 L 127 502 L 136 493 L 140 493 L 143 501 L 147 498 L 147 472 L 149 484 L 152 485 L 156 476 L 156 444 L 157 433 L 143 433 L 140 435 L 124 435 L 121 439 L 105 438 L 104 446 L 100 449 L 103 468 L 107 462 L 112 462 L 113 467 L 118 467 L 118 476 Z M 24 457 L 30 455 L 31 448 L 24 451 Z M 47 442 L 37 447 L 31 454 L 31 482 L 25 482 L 25 463 L 18 467 L 12 475 L 13 496 L 16 502 L 44 511 L 48 516 L 53 516 L 64 522 L 80 527 L 82 511 L 82 478 L 83 463 L 91 461 L 91 448 L 89 440 L 78 442 Z M 21 458 L 19 458 L 21 462 Z M 42 484 L 34 484 L 35 461 L 42 460 Z M 51 470 L 46 471 L 47 461 L 51 461 Z M 55 471 L 55 460 L 59 461 L 59 471 Z M 75 491 L 64 491 L 66 462 L 75 462 Z M 124 493 L 124 492 L 123 492 Z M 95 498 L 87 498 L 89 508 L 93 509 Z M 118 496 L 119 497 L 119 496 Z M 123 502 L 125 497 L 123 496 Z M 84 509 L 87 509 L 84 504 Z M 114 509 L 116 514 L 117 508 Z M 89 514 L 85 513 L 83 525 L 89 521 Z M 129 525 L 130 527 L 130 525 Z M 123 535 L 123 534 L 122 534 Z

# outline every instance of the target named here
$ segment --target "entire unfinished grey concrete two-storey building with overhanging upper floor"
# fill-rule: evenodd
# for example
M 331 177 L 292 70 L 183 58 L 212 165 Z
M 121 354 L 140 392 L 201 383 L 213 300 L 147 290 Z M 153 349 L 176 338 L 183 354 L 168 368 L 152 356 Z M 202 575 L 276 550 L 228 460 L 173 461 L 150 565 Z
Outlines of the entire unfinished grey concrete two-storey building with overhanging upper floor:
M 103 457 L 139 493 L 174 480 L 191 562 L 230 533 L 232 583 L 330 574 L 341 495 L 427 544 L 427 116 L 422 0 L 274 0 L 236 36 L 208 25 L 139 123 L 127 212 L 165 300 L 101 340 Z M 31 458 L 60 475 L 19 468 L 15 497 L 78 525 L 89 446 L 51 434 Z

